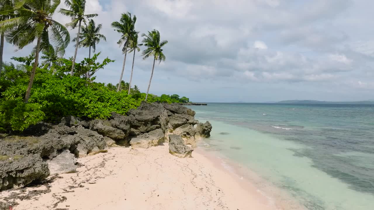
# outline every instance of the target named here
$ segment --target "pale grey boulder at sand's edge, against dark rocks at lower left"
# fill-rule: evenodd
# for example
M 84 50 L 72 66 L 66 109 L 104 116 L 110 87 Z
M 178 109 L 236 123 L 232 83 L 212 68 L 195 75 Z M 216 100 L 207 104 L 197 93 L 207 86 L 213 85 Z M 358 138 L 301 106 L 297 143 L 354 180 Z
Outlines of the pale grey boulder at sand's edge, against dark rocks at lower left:
M 74 173 L 78 166 L 76 166 L 77 158 L 70 151 L 64 150 L 58 154 L 53 160 L 49 160 L 48 168 L 50 174 Z

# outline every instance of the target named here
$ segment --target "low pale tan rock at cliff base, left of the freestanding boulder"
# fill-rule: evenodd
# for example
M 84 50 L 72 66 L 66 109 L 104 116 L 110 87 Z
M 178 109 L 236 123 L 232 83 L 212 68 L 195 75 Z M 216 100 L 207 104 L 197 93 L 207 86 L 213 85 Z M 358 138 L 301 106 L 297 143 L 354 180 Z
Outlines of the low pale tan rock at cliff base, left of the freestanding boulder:
M 156 129 L 132 138 L 130 145 L 134 148 L 149 148 L 163 142 L 165 142 L 165 134 L 162 129 Z

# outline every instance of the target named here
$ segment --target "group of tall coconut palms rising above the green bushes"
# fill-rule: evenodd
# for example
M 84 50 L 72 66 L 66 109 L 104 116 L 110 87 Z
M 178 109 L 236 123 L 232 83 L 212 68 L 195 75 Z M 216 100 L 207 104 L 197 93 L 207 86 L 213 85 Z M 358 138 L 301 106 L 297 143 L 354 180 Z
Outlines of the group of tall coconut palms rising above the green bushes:
M 60 0 L 1 0 L 0 2 L 0 77 L 3 69 L 3 49 L 4 40 L 8 43 L 22 49 L 25 46 L 37 42 L 33 49 L 35 60 L 33 69 L 30 75 L 30 81 L 24 97 L 24 102 L 27 103 L 30 98 L 31 88 L 36 74 L 36 69 L 39 64 L 39 53 L 43 52 L 43 64 L 52 67 L 52 64 L 58 64 L 62 56 L 65 55 L 65 49 L 70 43 L 70 34 L 67 30 L 70 28 L 77 28 L 77 36 L 73 38 L 75 44 L 75 52 L 71 59 L 70 75 L 74 75 L 76 71 L 76 56 L 79 47 L 89 48 L 89 59 L 91 59 L 91 48 L 95 52 L 96 44 L 100 40 L 106 41 L 106 37 L 100 34 L 102 24 L 96 26 L 93 21 L 98 14 L 86 14 L 86 0 L 65 0 L 67 9 L 60 9 L 59 12 L 71 18 L 71 22 L 62 25 L 52 18 L 60 4 Z M 133 52 L 132 70 L 128 85 L 128 94 L 131 91 L 131 81 L 134 70 L 135 52 L 140 51 L 140 46 L 145 46 L 146 49 L 142 51 L 143 59 L 149 57 L 153 58 L 153 66 L 150 80 L 148 83 L 145 101 L 148 99 L 148 92 L 153 77 L 154 64 L 165 61 L 162 47 L 168 43 L 167 40 L 160 39 L 160 33 L 156 29 L 148 31 L 147 34 L 141 34 L 143 37 L 142 44 L 138 43 L 139 32 L 135 30 L 136 16 L 131 13 L 122 13 L 119 21 L 114 21 L 111 26 L 120 34 L 120 39 L 117 44 L 122 47 L 124 54 L 122 71 L 117 84 L 117 92 L 123 90 L 122 77 L 125 70 L 126 56 Z M 84 24 L 84 25 L 83 25 Z M 54 47 L 52 46 L 54 44 Z M 88 76 L 88 75 L 86 75 Z

